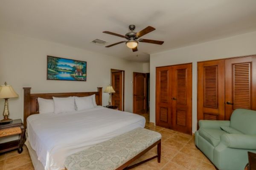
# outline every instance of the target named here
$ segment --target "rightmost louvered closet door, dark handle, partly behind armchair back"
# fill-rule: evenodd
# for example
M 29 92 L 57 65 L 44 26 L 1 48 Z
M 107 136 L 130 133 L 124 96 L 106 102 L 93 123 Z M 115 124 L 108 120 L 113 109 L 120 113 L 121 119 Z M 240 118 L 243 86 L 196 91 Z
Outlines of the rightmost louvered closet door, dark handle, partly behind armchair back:
M 256 57 L 225 60 L 225 119 L 237 108 L 256 110 Z

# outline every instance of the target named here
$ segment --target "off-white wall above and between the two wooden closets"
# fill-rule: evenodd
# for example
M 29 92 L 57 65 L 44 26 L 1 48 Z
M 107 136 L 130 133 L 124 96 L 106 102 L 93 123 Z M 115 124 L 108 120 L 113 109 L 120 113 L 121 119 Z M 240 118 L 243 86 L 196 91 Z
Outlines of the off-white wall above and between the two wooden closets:
M 150 122 L 155 122 L 156 67 L 192 62 L 192 132 L 197 125 L 197 62 L 256 54 L 256 32 L 150 55 Z

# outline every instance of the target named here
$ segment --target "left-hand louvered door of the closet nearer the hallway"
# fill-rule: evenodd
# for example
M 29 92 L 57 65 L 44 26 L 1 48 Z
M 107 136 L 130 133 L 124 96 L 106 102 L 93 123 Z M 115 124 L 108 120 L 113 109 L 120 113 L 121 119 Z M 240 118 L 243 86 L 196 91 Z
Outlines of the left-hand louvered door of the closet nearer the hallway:
M 172 68 L 160 67 L 156 71 L 156 124 L 172 128 Z

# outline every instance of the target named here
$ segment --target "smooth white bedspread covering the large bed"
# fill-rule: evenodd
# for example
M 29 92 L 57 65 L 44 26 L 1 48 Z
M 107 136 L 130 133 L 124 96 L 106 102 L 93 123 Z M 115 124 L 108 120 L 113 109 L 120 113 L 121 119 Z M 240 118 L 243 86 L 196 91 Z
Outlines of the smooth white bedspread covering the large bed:
M 72 113 L 34 114 L 27 118 L 29 143 L 45 170 L 64 169 L 67 156 L 144 126 L 143 116 L 101 106 Z

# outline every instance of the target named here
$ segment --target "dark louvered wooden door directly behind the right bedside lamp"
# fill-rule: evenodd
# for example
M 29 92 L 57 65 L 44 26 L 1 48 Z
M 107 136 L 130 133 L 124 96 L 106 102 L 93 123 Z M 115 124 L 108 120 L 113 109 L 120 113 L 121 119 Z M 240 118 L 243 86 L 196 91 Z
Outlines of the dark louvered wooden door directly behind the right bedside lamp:
M 112 105 L 122 111 L 122 71 L 111 73 L 111 85 L 116 93 L 112 93 Z

